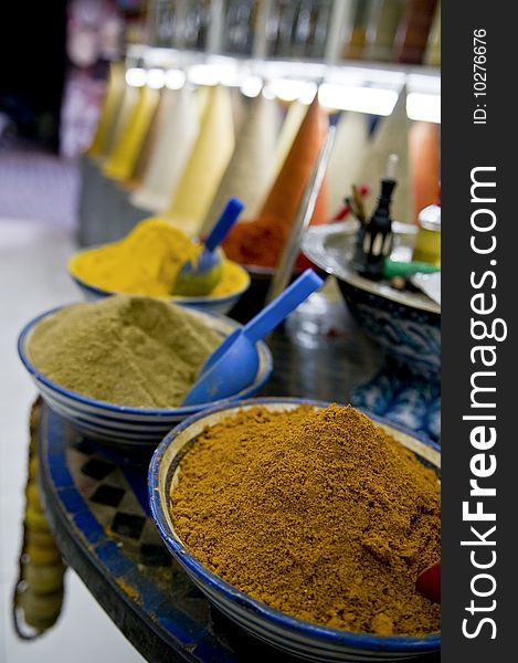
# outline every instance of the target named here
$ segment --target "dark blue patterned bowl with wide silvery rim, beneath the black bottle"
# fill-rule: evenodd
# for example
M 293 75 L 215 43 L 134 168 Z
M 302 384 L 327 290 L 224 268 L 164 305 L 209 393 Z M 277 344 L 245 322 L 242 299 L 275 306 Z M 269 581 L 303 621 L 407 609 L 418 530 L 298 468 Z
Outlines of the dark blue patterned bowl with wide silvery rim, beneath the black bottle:
M 392 259 L 410 260 L 416 227 L 394 223 Z M 377 344 L 413 372 L 437 379 L 441 371 L 441 306 L 420 292 L 360 276 L 351 265 L 358 222 L 310 228 L 303 251 L 337 278 L 351 315 Z

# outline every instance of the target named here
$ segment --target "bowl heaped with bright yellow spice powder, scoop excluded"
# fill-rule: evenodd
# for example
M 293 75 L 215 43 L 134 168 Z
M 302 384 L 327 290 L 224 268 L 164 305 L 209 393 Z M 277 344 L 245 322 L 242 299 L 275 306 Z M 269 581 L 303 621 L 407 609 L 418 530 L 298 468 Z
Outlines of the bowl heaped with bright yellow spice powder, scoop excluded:
M 208 295 L 175 295 L 178 272 L 188 260 L 195 261 L 200 250 L 199 244 L 167 220 L 150 218 L 117 242 L 75 253 L 68 260 L 68 274 L 87 301 L 127 293 L 224 315 L 251 282 L 244 267 L 224 256 L 221 280 Z

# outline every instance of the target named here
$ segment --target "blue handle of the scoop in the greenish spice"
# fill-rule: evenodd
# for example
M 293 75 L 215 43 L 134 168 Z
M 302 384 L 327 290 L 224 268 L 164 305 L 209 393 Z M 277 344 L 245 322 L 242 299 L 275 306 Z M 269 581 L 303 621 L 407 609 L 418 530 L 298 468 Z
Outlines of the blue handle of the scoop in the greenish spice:
M 279 325 L 284 318 L 318 290 L 324 281 L 313 270 L 306 270 L 273 302 L 263 308 L 242 329 L 242 334 L 252 343 L 261 340 Z

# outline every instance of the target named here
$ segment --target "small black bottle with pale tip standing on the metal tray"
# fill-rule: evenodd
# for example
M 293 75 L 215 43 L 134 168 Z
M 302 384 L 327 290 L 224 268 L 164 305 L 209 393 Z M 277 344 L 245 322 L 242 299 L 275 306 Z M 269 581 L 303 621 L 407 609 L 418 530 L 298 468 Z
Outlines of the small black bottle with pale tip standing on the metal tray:
M 392 252 L 392 217 L 390 204 L 392 193 L 398 183 L 395 168 L 398 156 L 390 155 L 387 176 L 381 178 L 381 192 L 378 206 L 366 223 L 359 230 L 355 263 L 358 273 L 366 278 L 379 281 L 383 277 L 383 264 Z

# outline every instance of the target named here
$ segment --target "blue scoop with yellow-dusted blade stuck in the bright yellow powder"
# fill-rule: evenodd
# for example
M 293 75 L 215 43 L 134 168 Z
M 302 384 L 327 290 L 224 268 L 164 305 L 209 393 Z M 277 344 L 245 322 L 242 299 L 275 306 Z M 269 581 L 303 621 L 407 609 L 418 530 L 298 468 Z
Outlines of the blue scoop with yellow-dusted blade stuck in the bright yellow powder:
M 208 295 L 218 285 L 223 272 L 223 262 L 216 248 L 237 221 L 243 208 L 244 204 L 237 198 L 229 199 L 221 217 L 203 242 L 203 251 L 198 261 L 193 264 L 189 260 L 182 265 L 172 288 L 173 295 L 200 297 Z

